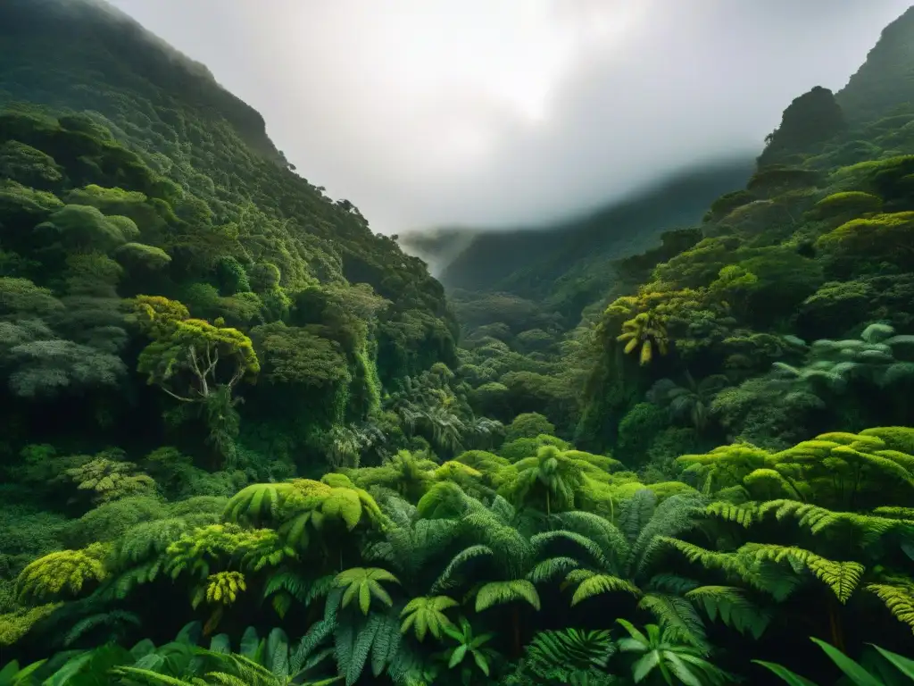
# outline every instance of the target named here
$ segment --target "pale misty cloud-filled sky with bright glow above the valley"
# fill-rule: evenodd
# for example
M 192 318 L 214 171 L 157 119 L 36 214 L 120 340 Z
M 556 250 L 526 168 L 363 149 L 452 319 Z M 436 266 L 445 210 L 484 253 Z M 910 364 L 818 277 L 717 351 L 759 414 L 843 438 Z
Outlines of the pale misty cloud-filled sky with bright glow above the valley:
M 111 0 L 385 233 L 574 215 L 840 89 L 910 0 Z

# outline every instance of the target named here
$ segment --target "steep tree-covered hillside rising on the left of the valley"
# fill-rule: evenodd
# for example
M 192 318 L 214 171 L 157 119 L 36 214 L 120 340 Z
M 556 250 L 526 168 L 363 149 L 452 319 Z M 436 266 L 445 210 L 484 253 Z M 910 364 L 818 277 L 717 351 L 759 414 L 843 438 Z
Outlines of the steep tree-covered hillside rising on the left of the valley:
M 454 359 L 425 265 L 297 176 L 260 114 L 206 68 L 107 5 L 0 5 L 0 177 L 12 454 L 53 412 L 58 439 L 82 450 L 174 440 L 208 464 L 250 450 L 249 462 L 324 464 L 398 380 Z M 143 324 L 163 316 L 203 322 L 199 338 Z M 151 338 L 165 348 L 144 349 Z M 201 347 L 223 357 L 194 381 L 177 369 Z M 80 368 L 85 356 L 98 368 Z M 187 393 L 194 402 L 173 397 Z M 220 397 L 230 403 L 213 415 Z M 155 419 L 138 429 L 141 411 Z M 175 433 L 179 419 L 195 428 Z

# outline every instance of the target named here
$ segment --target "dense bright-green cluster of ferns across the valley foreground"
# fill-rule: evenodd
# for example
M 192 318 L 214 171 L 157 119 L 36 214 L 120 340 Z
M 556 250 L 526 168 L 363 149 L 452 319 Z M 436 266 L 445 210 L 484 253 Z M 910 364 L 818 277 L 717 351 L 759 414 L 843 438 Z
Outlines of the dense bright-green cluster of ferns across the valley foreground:
M 865 616 L 909 645 L 914 429 L 721 446 L 646 485 L 547 435 L 505 447 L 177 501 L 29 563 L 4 623 L 32 649 L 110 641 L 65 664 L 123 683 L 723 684 L 802 667 L 785 634 L 858 653 Z M 186 663 L 115 647 L 186 622 Z

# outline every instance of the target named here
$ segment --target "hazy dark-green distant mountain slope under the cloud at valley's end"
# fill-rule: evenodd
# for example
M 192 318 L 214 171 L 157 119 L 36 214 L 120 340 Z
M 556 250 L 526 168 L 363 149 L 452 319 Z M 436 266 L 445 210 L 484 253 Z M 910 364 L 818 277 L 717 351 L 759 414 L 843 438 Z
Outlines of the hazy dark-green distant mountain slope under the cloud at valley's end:
M 745 185 L 754 164 L 736 159 L 688 169 L 634 198 L 545 229 L 441 230 L 400 242 L 435 265 L 447 287 L 549 299 L 574 316 L 611 283 L 605 263 L 649 248 L 664 230 L 696 224 L 712 200 Z

